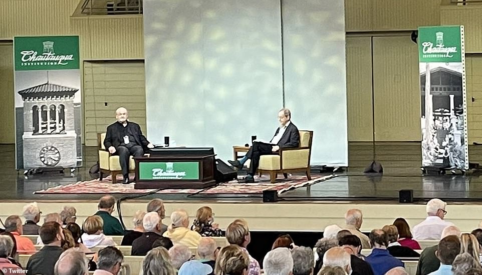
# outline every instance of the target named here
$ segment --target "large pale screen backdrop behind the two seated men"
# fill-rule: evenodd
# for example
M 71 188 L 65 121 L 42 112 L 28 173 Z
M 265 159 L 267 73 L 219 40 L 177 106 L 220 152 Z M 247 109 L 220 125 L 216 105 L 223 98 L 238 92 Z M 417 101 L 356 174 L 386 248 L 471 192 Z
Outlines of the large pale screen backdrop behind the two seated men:
M 232 159 L 232 146 L 252 135 L 271 139 L 285 100 L 298 128 L 314 131 L 311 163 L 347 165 L 343 3 L 283 1 L 283 19 L 279 0 L 143 3 L 151 142 L 169 136 Z

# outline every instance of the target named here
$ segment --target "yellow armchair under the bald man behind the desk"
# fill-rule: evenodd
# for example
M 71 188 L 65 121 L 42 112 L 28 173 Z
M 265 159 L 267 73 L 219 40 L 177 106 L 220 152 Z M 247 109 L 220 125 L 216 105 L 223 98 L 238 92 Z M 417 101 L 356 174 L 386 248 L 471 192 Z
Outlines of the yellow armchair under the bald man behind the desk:
M 117 174 L 122 173 L 119 156 L 112 155 L 104 146 L 105 133 L 97 134 L 97 147 L 99 148 L 99 179 L 102 180 L 104 173 L 112 176 L 112 183 L 117 183 Z M 134 158 L 129 158 L 129 172 L 133 173 L 136 164 Z

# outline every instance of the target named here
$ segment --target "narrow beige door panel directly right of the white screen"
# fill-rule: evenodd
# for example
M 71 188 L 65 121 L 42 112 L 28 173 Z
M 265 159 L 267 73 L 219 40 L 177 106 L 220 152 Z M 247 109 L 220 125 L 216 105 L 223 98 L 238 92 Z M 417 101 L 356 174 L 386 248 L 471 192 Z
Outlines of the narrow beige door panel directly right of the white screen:
M 347 37 L 346 63 L 348 141 L 372 141 L 370 37 Z

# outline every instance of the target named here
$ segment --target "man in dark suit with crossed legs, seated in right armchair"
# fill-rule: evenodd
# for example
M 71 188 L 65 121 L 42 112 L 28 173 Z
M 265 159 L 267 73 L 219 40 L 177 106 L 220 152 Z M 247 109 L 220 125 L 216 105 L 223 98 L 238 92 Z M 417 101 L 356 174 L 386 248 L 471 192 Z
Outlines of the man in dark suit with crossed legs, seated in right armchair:
M 281 109 L 278 113 L 278 121 L 280 122 L 280 127 L 276 129 L 275 135 L 269 143 L 254 141 L 253 146 L 242 159 L 228 160 L 233 167 L 240 170 L 245 162 L 251 159 L 248 175 L 244 179 L 239 180 L 239 182 L 255 182 L 254 175 L 260 165 L 260 157 L 262 155 L 277 154 L 280 148 L 296 148 L 300 145 L 300 132 L 295 124 L 291 122 L 291 111 L 287 108 Z

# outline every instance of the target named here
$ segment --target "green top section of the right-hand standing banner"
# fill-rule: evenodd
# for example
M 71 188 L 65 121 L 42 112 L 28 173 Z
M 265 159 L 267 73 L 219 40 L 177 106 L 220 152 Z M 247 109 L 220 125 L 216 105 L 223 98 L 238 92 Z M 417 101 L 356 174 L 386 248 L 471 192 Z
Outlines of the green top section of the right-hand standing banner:
M 420 62 L 462 62 L 460 26 L 418 28 Z

